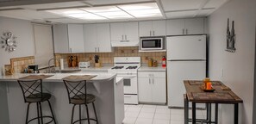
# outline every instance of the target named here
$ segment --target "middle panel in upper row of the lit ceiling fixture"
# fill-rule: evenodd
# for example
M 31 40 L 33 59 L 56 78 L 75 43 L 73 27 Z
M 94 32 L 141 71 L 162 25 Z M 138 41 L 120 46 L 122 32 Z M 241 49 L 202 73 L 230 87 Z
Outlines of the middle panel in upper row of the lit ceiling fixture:
M 91 13 L 109 12 L 109 11 L 121 11 L 116 6 L 104 6 L 104 7 L 93 7 L 93 8 L 81 8 Z

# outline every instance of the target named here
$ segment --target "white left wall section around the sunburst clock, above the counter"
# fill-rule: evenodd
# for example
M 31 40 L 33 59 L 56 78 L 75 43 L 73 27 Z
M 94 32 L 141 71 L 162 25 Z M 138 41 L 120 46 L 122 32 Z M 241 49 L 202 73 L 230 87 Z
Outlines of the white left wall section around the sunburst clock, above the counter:
M 30 22 L 0 16 L 0 35 L 2 36 L 6 31 L 16 35 L 17 47 L 16 51 L 11 53 L 0 47 L 1 70 L 3 65 L 10 64 L 9 59 L 11 58 L 34 56 L 34 33 Z

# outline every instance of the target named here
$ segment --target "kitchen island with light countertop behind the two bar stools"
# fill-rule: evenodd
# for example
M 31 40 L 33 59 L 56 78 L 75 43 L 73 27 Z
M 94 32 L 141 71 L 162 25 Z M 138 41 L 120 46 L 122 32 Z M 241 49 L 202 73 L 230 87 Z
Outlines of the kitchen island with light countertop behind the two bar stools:
M 18 78 L 26 77 L 29 74 L 16 74 L 13 76 L 0 76 L 0 83 L 6 85 L 6 102 L 9 111 L 9 123 L 18 124 L 25 122 L 27 104 L 22 97 L 22 90 L 16 82 Z M 88 81 L 88 92 L 97 96 L 96 109 L 99 124 L 121 124 L 124 118 L 122 78 L 116 78 L 116 73 L 89 73 L 79 71 L 77 73 L 45 73 L 44 75 L 53 75 L 50 78 L 43 79 L 43 90 L 52 94 L 50 102 L 53 106 L 53 113 L 59 124 L 69 124 L 72 115 L 72 105 L 68 102 L 68 96 L 62 78 L 70 75 L 97 75 Z M 119 94 L 122 94 L 120 96 Z M 49 115 L 50 111 L 47 102 L 43 102 L 43 114 Z M 93 115 L 93 109 L 90 107 L 90 115 Z M 83 108 L 84 109 L 84 108 Z M 75 109 L 78 112 L 78 109 Z M 123 112 L 122 113 L 120 113 Z M 117 114 L 117 112 L 119 112 Z M 78 114 L 78 113 L 76 113 Z M 78 115 L 75 114 L 75 117 Z M 29 117 L 36 115 L 35 105 L 31 106 Z M 82 112 L 85 117 L 85 111 Z M 36 122 L 36 121 L 35 121 Z

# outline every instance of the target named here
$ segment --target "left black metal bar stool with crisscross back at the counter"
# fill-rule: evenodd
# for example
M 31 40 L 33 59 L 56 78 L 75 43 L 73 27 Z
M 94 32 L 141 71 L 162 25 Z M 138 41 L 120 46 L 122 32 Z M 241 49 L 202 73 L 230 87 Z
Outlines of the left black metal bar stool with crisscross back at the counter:
M 52 119 L 51 121 L 48 121 L 47 124 L 51 122 L 54 122 L 54 124 L 56 124 L 56 121 L 53 115 L 53 109 L 52 109 L 51 103 L 49 102 L 49 99 L 51 98 L 52 95 L 49 93 L 42 92 L 42 79 L 18 79 L 17 81 L 22 88 L 24 101 L 28 102 L 26 124 L 36 119 L 38 121 L 38 124 L 44 124 L 43 122 L 44 118 Z M 48 102 L 52 116 L 42 115 L 41 102 L 46 102 L 46 101 Z M 34 117 L 28 121 L 29 107 L 31 103 L 36 103 L 37 117 Z

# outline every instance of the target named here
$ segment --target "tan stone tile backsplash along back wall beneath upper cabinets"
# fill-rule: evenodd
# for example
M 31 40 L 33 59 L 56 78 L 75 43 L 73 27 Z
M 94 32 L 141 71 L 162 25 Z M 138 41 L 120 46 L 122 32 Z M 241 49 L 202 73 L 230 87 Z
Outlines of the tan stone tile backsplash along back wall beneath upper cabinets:
M 165 52 L 140 52 L 138 46 L 128 47 L 114 47 L 112 53 L 56 53 L 56 66 L 59 66 L 59 59 L 64 59 L 65 66 L 67 66 L 68 56 L 78 56 L 78 62 L 91 61 L 91 65 L 94 65 L 94 55 L 99 55 L 100 61 L 103 65 L 113 65 L 114 57 L 141 57 L 142 64 L 147 64 L 147 59 L 156 59 L 158 63 L 161 63 L 162 57 L 166 56 Z

